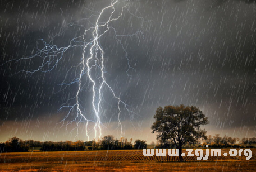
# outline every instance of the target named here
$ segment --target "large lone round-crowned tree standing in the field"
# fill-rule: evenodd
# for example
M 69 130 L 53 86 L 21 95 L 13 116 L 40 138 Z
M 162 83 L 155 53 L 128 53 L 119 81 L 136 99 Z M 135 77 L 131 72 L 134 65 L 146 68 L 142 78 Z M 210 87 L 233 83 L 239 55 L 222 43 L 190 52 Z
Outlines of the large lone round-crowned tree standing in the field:
M 179 159 L 183 161 L 182 145 L 195 142 L 198 138 L 207 138 L 206 131 L 200 129 L 206 125 L 208 118 L 195 106 L 159 107 L 154 115 L 155 122 L 151 126 L 152 133 L 157 133 L 161 142 L 173 141 L 179 147 Z

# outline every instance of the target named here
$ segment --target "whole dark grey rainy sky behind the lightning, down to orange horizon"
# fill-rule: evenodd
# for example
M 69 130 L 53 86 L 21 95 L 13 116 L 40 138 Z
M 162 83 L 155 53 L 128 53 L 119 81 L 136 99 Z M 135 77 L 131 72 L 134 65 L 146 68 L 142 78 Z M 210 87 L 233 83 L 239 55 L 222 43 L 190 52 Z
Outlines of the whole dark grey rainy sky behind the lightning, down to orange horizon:
M 74 104 L 71 98 L 78 84 L 60 84 L 77 78 L 81 68 L 74 66 L 81 62 L 81 47 L 67 50 L 47 72 L 47 68 L 33 74 L 20 72 L 38 69 L 41 58 L 6 61 L 28 58 L 43 48 L 43 41 L 68 46 L 95 24 L 99 12 L 110 3 L 0 2 L 0 141 L 13 136 L 41 141 L 86 140 L 85 122 L 80 123 L 77 137 L 72 130 L 75 122 L 66 127 L 75 112 L 64 126 L 57 124 L 68 113 L 67 108 L 58 112 L 63 103 Z M 120 1 L 115 15 L 124 6 L 123 15 L 111 22 L 115 31 L 111 29 L 100 38 L 106 81 L 132 111 L 121 105 L 123 136 L 149 144 L 156 140 L 150 130 L 156 108 L 185 104 L 199 107 L 209 118 L 205 126 L 208 134 L 255 137 L 256 2 Z M 119 36 L 120 43 L 115 34 L 135 35 Z M 85 76 L 79 98 L 84 114 L 92 117 L 92 83 Z M 103 135 L 119 138 L 117 100 L 107 87 L 102 98 Z M 93 139 L 93 131 L 89 135 Z

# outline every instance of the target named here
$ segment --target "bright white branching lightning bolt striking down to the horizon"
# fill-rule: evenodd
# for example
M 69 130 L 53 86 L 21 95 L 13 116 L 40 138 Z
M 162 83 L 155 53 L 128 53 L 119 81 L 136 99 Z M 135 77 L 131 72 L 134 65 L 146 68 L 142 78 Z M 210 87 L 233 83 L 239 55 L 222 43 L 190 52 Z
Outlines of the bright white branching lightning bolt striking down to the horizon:
M 81 62 L 76 65 L 76 66 L 72 66 L 71 69 L 75 68 L 76 71 L 79 70 L 78 72 L 78 76 L 75 75 L 74 79 L 72 80 L 72 82 L 69 83 L 65 83 L 65 80 L 67 78 L 68 73 L 70 72 L 70 70 L 67 71 L 65 80 L 59 84 L 61 85 L 61 87 L 63 86 L 64 88 L 61 89 L 60 91 L 66 89 L 68 86 L 70 86 L 71 84 L 78 84 L 78 89 L 77 92 L 75 94 L 74 97 L 70 98 L 67 100 L 67 102 L 63 103 L 61 108 L 58 109 L 58 112 L 60 112 L 63 108 L 68 108 L 68 113 L 67 115 L 63 118 L 62 121 L 60 121 L 57 124 L 62 123 L 62 126 L 65 124 L 65 120 L 71 115 L 71 113 L 73 111 L 76 111 L 76 116 L 74 118 L 74 120 L 67 122 L 66 128 L 68 125 L 70 125 L 72 122 L 76 122 L 76 128 L 74 128 L 73 130 L 76 129 L 76 133 L 78 135 L 79 133 L 79 124 L 83 121 L 85 121 L 85 130 L 86 130 L 86 137 L 88 138 L 88 141 L 90 140 L 89 138 L 89 122 L 93 122 L 94 123 L 94 127 L 93 129 L 91 129 L 92 131 L 94 131 L 94 139 L 100 138 L 102 136 L 102 126 L 103 123 L 102 121 L 100 121 L 100 107 L 102 104 L 102 96 L 103 96 L 103 88 L 106 87 L 110 90 L 110 92 L 113 95 L 113 98 L 115 98 L 117 100 L 117 108 L 118 108 L 118 116 L 117 116 L 117 120 L 118 120 L 118 127 L 120 128 L 120 136 L 122 137 L 123 134 L 123 128 L 122 128 L 122 123 L 120 120 L 120 116 L 121 116 L 121 108 L 120 108 L 120 104 L 122 104 L 125 109 L 127 110 L 127 112 L 129 112 L 129 115 L 131 117 L 131 123 L 132 123 L 132 114 L 135 114 L 134 112 L 132 112 L 129 108 L 129 106 L 120 99 L 120 97 L 118 97 L 116 95 L 116 93 L 114 92 L 114 90 L 112 89 L 112 87 L 107 83 L 106 81 L 106 77 L 104 76 L 104 73 L 106 73 L 105 71 L 105 67 L 104 67 L 104 50 L 103 47 L 100 45 L 100 38 L 103 35 L 106 35 L 106 33 L 109 30 L 113 30 L 115 32 L 115 39 L 117 40 L 118 43 L 120 43 L 122 49 L 125 52 L 125 58 L 127 59 L 127 64 L 128 64 L 128 69 L 126 71 L 126 74 L 128 76 L 129 75 L 129 70 L 134 70 L 134 68 L 132 68 L 130 66 L 130 61 L 128 58 L 128 53 L 124 48 L 124 45 L 121 42 L 121 37 L 131 37 L 131 36 L 138 36 L 141 35 L 144 37 L 143 33 L 141 31 L 137 31 L 134 34 L 130 34 L 130 35 L 118 35 L 117 31 L 115 30 L 114 27 L 110 26 L 111 22 L 116 21 L 118 19 L 120 19 L 120 17 L 123 15 L 124 10 L 127 9 L 127 11 L 130 13 L 130 15 L 132 17 L 136 17 L 140 20 L 143 20 L 143 22 L 149 22 L 149 21 L 145 21 L 144 18 L 142 17 L 138 17 L 136 15 L 134 15 L 133 13 L 130 12 L 129 8 L 127 8 L 127 4 L 124 3 L 125 1 L 122 1 L 121 3 L 124 4 L 121 8 L 121 12 L 119 15 L 117 15 L 117 17 L 113 17 L 114 13 L 116 12 L 116 8 L 115 6 L 117 5 L 118 1 L 117 0 L 113 0 L 111 2 L 111 4 L 107 7 L 104 7 L 102 9 L 102 11 L 100 12 L 95 12 L 98 13 L 98 15 L 91 15 L 88 18 L 84 18 L 83 20 L 87 20 L 90 22 L 90 18 L 93 17 L 97 17 L 95 23 L 93 24 L 92 27 L 85 29 L 84 34 L 74 37 L 74 39 L 72 39 L 69 42 L 69 45 L 66 47 L 57 47 L 57 45 L 51 45 L 51 42 L 53 42 L 54 37 L 56 37 L 57 35 L 61 35 L 63 32 L 60 32 L 59 34 L 57 34 L 56 36 L 54 36 L 52 38 L 52 41 L 50 41 L 50 44 L 47 44 L 47 42 L 45 42 L 43 39 L 40 39 L 40 41 L 43 42 L 43 49 L 39 49 L 38 51 L 36 51 L 36 53 L 32 56 L 29 56 L 28 58 L 20 58 L 20 59 L 12 59 L 9 61 L 6 61 L 5 63 L 3 63 L 2 65 L 9 63 L 11 61 L 21 61 L 21 60 L 31 60 L 34 58 L 42 58 L 42 64 L 40 66 L 38 66 L 38 69 L 35 70 L 21 70 L 18 71 L 17 73 L 20 72 L 25 72 L 27 74 L 34 74 L 35 72 L 41 71 L 41 72 L 49 72 L 52 71 L 54 68 L 57 68 L 58 63 L 60 62 L 60 60 L 62 60 L 63 58 L 63 54 L 71 48 L 74 47 L 81 47 L 83 48 L 83 54 L 81 57 Z M 111 14 L 109 15 L 108 19 L 106 22 L 100 22 L 100 20 L 102 19 L 102 16 L 107 12 L 111 10 Z M 93 12 L 93 11 L 92 11 Z M 106 17 L 106 16 L 105 16 Z M 70 25 L 68 25 L 68 27 L 71 26 L 80 26 L 78 25 L 76 22 L 72 22 L 70 23 Z M 84 28 L 84 26 L 80 26 L 82 28 Z M 103 30 L 103 31 L 102 31 Z M 89 39 L 89 41 L 86 40 L 86 36 L 88 35 L 92 35 L 92 37 Z M 83 41 L 81 41 L 83 40 Z M 88 56 L 86 55 L 86 52 L 89 50 L 89 54 Z M 0 66 L 2 66 L 0 65 Z M 93 72 L 94 71 L 94 72 Z M 97 72 L 96 72 L 97 71 Z M 97 73 L 97 74 L 95 74 Z M 92 84 L 92 92 L 93 92 L 93 99 L 92 99 L 92 106 L 93 106 L 93 114 L 94 114 L 94 121 L 93 120 L 89 120 L 88 115 L 86 115 L 83 111 L 84 107 L 83 107 L 83 102 L 81 101 L 80 94 L 81 92 L 83 92 L 83 82 L 82 79 L 84 77 L 86 77 L 89 79 L 89 82 Z M 75 101 L 75 103 L 73 105 L 68 105 L 70 101 Z M 132 123 L 133 125 L 133 123 Z M 73 131 L 72 130 L 72 131 Z M 76 135 L 76 136 L 77 136 Z

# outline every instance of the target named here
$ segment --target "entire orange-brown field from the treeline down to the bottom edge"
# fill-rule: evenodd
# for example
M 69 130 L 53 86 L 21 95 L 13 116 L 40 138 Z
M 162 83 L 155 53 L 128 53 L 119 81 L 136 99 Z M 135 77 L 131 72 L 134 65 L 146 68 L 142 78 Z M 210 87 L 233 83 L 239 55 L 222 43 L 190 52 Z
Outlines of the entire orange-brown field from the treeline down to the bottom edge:
M 222 149 L 222 154 L 228 150 Z M 229 155 L 208 160 L 185 156 L 184 163 L 168 155 L 144 157 L 142 150 L 4 153 L 0 154 L 0 171 L 256 171 L 256 149 L 251 150 L 250 160 Z

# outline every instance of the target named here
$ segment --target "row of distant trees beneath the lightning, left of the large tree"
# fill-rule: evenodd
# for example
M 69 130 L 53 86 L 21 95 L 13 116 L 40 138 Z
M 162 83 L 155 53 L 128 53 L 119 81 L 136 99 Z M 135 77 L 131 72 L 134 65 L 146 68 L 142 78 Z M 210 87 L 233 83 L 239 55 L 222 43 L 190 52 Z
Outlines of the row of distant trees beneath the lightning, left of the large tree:
M 135 140 L 132 146 L 132 139 L 130 142 L 127 138 L 115 139 L 114 136 L 104 136 L 101 140 L 93 141 L 34 141 L 22 140 L 17 137 L 10 138 L 5 143 L 0 144 L 0 152 L 26 152 L 34 147 L 40 147 L 40 151 L 83 151 L 83 150 L 117 150 L 117 149 L 143 149 L 147 148 L 146 141 Z

